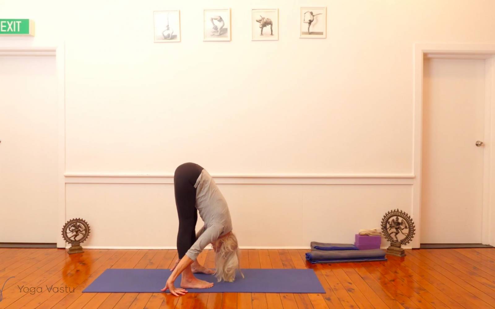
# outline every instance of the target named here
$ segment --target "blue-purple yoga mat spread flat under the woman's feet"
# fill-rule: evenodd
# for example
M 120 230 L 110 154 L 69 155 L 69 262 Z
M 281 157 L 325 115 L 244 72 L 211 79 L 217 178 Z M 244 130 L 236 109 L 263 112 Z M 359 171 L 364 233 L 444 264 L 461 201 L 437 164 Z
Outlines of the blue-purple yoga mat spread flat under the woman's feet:
M 195 293 L 325 293 L 312 269 L 242 269 L 234 282 L 217 282 L 213 275 L 196 273 L 198 279 L 213 282 L 209 289 L 188 289 Z M 171 271 L 168 269 L 108 268 L 83 293 L 160 293 Z M 175 281 L 180 286 L 181 276 Z M 168 290 L 167 290 L 168 292 Z

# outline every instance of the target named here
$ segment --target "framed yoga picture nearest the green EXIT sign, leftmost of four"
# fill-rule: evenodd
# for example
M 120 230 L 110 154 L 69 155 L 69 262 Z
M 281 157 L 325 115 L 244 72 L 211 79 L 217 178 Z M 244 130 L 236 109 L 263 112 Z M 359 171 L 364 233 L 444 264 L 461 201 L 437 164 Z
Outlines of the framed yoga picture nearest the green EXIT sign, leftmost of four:
M 154 11 L 154 42 L 181 42 L 180 11 Z

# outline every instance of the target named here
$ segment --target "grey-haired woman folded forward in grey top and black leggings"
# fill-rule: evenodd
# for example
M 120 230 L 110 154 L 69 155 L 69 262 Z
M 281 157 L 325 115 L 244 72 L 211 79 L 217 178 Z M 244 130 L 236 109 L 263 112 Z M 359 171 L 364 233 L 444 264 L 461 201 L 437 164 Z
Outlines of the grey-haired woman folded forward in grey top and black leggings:
M 237 238 L 232 233 L 227 202 L 215 181 L 198 164 L 184 163 L 175 170 L 174 191 L 179 215 L 179 259 L 170 269 L 172 274 L 161 291 L 169 289 L 170 293 L 179 296 L 187 293 L 187 288 L 206 289 L 213 286 L 211 282 L 196 278 L 194 272 L 214 273 L 218 282 L 234 281 L 236 270 L 240 269 Z M 198 211 L 204 226 L 196 233 Z M 210 243 L 215 251 L 216 270 L 205 268 L 196 261 L 198 254 Z M 174 281 L 181 273 L 181 287 L 175 287 Z

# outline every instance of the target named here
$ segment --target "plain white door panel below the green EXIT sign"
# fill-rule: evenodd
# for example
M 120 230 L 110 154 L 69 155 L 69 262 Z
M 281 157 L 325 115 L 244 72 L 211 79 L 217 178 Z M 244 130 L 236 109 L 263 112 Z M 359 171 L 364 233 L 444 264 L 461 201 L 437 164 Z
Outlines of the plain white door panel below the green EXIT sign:
M 54 56 L 0 56 L 0 242 L 56 243 Z

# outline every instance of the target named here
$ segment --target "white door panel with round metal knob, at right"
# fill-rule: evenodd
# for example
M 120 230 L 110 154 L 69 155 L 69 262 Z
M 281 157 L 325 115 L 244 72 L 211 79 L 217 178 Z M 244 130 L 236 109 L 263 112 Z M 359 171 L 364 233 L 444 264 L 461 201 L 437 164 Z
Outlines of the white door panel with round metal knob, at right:
M 485 61 L 425 59 L 421 243 L 481 243 Z

